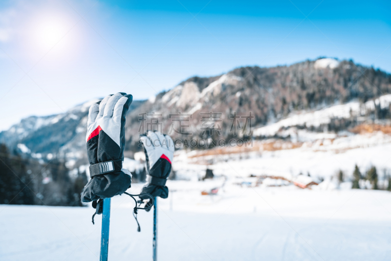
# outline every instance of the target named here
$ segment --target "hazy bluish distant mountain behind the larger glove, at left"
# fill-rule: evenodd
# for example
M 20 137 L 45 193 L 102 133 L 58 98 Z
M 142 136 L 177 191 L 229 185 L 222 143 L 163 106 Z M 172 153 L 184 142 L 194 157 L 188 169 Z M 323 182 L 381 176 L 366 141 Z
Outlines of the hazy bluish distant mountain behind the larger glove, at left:
M 22 119 L 10 129 L 0 132 L 0 143 L 27 157 L 51 160 L 56 156 L 85 161 L 88 109 L 97 101 L 90 100 L 61 114 Z M 133 101 L 130 110 L 143 102 Z

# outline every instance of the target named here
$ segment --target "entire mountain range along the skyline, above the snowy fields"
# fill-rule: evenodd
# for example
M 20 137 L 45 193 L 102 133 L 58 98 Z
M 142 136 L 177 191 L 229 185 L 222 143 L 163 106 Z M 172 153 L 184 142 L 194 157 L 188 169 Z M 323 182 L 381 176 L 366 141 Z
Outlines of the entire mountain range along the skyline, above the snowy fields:
M 384 125 L 391 118 L 389 93 L 390 74 L 331 58 L 192 77 L 148 101 L 133 101 L 127 115 L 125 154 L 132 157 L 140 150 L 138 138 L 147 128 L 160 128 L 182 140 L 239 138 L 242 134 L 230 132 L 235 112 L 238 116 L 251 112 L 251 137 L 256 139 L 274 137 L 296 142 L 292 133 L 295 128 L 316 134 L 348 131 L 362 123 Z M 93 102 L 63 114 L 22 119 L 0 133 L 0 142 L 26 156 L 42 160 L 65 157 L 73 164 L 86 164 L 85 127 Z M 179 112 L 180 118 L 187 120 L 184 132 L 188 135 L 175 132 L 179 123 L 174 117 Z M 211 112 L 217 113 L 217 118 L 204 120 Z M 152 118 L 160 125 L 152 126 Z M 219 132 L 205 132 L 205 125 Z

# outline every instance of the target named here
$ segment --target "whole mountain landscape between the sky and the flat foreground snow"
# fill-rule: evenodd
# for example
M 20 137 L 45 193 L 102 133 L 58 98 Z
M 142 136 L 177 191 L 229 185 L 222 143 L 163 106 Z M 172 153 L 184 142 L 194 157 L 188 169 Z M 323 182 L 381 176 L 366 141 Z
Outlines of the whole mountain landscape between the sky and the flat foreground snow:
M 124 167 L 138 187 L 146 177 L 139 135 L 159 129 L 183 142 L 175 151 L 171 178 L 188 182 L 198 194 L 218 194 L 224 186 L 391 190 L 390 93 L 390 74 L 330 58 L 192 77 L 149 100 L 133 101 Z M 58 115 L 22 119 L 0 133 L 0 143 L 8 147 L 0 146 L 0 167 L 12 180 L 2 179 L 2 190 L 8 191 L 4 198 L 13 198 L 24 179 L 37 195 L 34 204 L 80 205 L 89 174 L 87 114 L 96 101 Z M 250 113 L 252 126 L 243 134 Z M 233 122 L 241 124 L 237 133 Z M 251 142 L 210 149 L 184 145 L 240 138 Z M 207 170 L 213 180 L 204 179 Z M 31 197 L 21 197 L 18 204 L 32 204 L 24 198 Z

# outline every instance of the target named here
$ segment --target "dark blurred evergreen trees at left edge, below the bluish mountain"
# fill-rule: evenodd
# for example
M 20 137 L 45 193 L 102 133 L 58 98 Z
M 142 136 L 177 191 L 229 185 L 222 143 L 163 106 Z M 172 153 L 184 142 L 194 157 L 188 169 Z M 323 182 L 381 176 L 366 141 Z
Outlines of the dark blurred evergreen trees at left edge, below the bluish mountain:
M 87 181 L 86 172 L 71 178 L 64 161 L 42 165 L 0 144 L 0 204 L 82 206 L 80 194 Z

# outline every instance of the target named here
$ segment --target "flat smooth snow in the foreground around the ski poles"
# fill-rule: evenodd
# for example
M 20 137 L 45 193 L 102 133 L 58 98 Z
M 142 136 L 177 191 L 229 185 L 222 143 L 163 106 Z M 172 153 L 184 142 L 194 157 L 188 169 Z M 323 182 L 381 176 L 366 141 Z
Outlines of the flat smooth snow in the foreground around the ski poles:
M 159 261 L 386 261 L 391 255 L 391 193 L 224 186 L 168 181 L 159 199 Z M 142 184 L 133 184 L 130 193 Z M 152 260 L 152 212 L 137 233 L 132 199 L 112 198 L 109 260 Z M 101 216 L 90 207 L 0 205 L 1 261 L 97 261 Z

